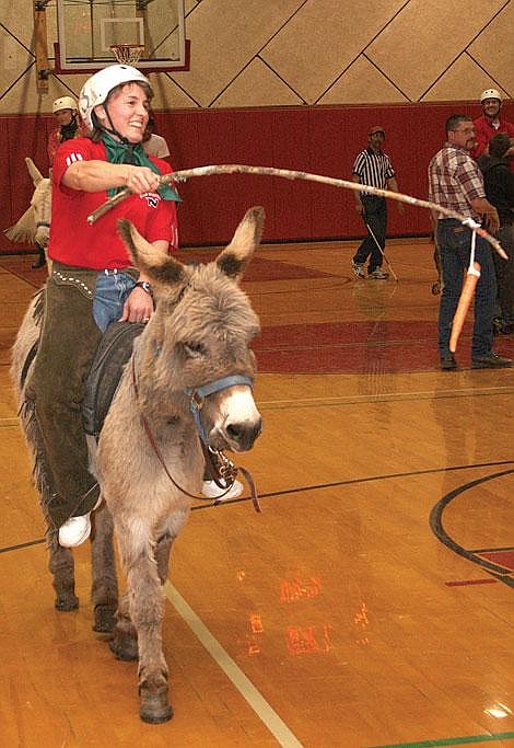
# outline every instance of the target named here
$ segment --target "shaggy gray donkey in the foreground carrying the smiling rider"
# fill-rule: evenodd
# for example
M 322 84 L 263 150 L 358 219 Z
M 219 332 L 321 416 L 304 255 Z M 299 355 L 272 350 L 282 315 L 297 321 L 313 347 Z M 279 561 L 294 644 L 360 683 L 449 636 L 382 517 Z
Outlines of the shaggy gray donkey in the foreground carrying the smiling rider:
M 253 447 L 261 428 L 252 394 L 255 358 L 249 349 L 259 323 L 238 280 L 260 241 L 262 225 L 262 208 L 252 208 L 214 262 L 183 265 L 156 252 L 128 221 L 120 221 L 135 265 L 152 279 L 156 309 L 135 341 L 98 439 L 87 437 L 91 470 L 104 499 L 93 514 L 93 628 L 114 629 L 109 646 L 119 659 L 139 659 L 140 716 L 150 723 L 173 715 L 162 651 L 161 586 L 173 540 L 189 514 L 189 494 L 201 488 L 201 437 L 208 451 L 242 452 Z M 25 398 L 40 303 L 36 298 L 24 318 L 11 373 L 45 510 L 51 486 Z M 119 602 L 113 523 L 127 575 L 127 591 Z M 57 543 L 55 531 L 47 536 L 56 607 L 74 609 L 79 600 L 72 552 Z

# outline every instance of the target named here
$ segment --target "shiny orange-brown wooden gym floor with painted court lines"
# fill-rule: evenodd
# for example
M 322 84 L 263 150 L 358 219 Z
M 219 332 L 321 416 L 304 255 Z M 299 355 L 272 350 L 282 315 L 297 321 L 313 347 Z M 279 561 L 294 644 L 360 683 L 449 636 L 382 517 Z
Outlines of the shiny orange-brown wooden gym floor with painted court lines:
M 9 348 L 44 279 L 0 260 L 0 746 L 514 745 L 514 369 L 437 369 L 432 248 L 389 241 L 399 283 L 355 280 L 355 243 L 262 246 L 265 429 L 247 493 L 195 506 L 164 623 L 172 722 L 138 718 L 136 664 L 54 607 Z M 206 251 L 192 251 L 203 257 Z M 514 338 L 497 340 L 514 356 Z

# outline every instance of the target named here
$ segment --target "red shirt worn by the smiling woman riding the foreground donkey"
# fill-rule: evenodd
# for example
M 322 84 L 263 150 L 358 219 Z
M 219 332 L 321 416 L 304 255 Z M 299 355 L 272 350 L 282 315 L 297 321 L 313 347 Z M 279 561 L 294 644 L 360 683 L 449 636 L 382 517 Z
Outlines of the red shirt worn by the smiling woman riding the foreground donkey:
M 57 150 L 52 168 L 51 226 L 48 255 L 66 265 L 90 269 L 121 269 L 131 264 L 117 232 L 120 218 L 130 220 L 149 242 L 164 240 L 171 250 L 177 249 L 177 214 L 173 200 L 163 200 L 157 193 L 129 195 L 115 208 L 90 226 L 87 216 L 108 198 L 107 192 L 87 193 L 70 189 L 62 176 L 74 161 L 106 161 L 103 142 L 89 138 L 66 140 Z M 162 174 L 172 171 L 170 164 L 150 157 Z

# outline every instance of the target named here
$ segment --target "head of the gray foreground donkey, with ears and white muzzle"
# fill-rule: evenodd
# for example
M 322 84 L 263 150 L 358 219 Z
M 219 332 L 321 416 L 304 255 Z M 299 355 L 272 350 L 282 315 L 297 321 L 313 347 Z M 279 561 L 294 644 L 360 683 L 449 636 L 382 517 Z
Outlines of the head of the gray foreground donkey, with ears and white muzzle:
M 261 429 L 249 385 L 256 369 L 249 344 L 259 322 L 238 281 L 260 242 L 262 226 L 264 209 L 250 208 L 214 262 L 183 265 L 156 252 L 131 223 L 119 222 L 133 263 L 152 279 L 156 294 L 140 369 L 144 405 L 152 408 L 153 401 L 153 417 L 170 417 L 166 401 L 182 403 L 187 412 L 192 392 L 200 400 L 208 441 L 217 449 L 250 449 Z M 236 383 L 225 380 L 233 376 Z M 241 383 L 244 377 L 247 383 Z M 219 380 L 226 381 L 221 391 L 205 399 L 195 394 Z

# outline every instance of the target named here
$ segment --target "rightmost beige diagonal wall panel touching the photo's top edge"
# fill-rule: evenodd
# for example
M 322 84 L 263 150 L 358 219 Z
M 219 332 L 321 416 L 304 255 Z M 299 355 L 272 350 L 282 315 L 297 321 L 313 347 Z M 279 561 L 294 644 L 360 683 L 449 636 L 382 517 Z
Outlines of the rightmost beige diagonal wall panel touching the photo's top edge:
M 456 15 L 447 0 L 410 0 L 366 54 L 411 101 L 419 101 L 503 4 L 469 0 Z

